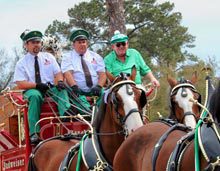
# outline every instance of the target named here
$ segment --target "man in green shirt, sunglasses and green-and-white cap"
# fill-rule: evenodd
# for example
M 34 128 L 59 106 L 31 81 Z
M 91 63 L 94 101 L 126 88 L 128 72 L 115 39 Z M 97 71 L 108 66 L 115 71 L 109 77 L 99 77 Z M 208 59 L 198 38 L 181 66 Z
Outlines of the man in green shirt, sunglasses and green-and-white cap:
M 128 48 L 128 37 L 126 35 L 115 31 L 114 36 L 111 38 L 111 45 L 113 51 L 104 58 L 108 72 L 114 76 L 119 75 L 121 72 L 131 74 L 131 69 L 135 65 L 137 69 L 136 84 L 142 84 L 142 77 L 144 77 L 149 79 L 155 86 L 160 86 L 159 81 L 154 77 L 141 54 L 135 49 Z

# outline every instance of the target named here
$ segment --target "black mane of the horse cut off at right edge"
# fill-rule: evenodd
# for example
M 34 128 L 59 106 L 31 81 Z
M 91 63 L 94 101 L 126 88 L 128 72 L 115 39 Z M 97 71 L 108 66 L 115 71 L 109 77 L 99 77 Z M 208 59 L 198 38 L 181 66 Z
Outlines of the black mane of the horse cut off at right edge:
M 212 114 L 215 121 L 220 123 L 220 81 L 215 91 L 213 92 L 210 103 L 209 103 L 209 111 Z

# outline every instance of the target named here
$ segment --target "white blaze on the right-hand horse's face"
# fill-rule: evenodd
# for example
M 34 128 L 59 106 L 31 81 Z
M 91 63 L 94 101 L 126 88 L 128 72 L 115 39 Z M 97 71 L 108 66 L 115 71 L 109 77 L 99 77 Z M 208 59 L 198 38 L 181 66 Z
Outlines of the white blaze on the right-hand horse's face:
M 194 99 L 193 93 L 190 89 L 185 88 L 187 96 L 183 97 L 182 94 L 182 88 L 180 88 L 176 94 L 175 100 L 176 103 L 178 103 L 179 107 L 183 109 L 184 114 L 186 112 L 193 113 L 193 103 L 190 101 L 190 99 Z M 186 126 L 190 126 L 191 128 L 196 127 L 196 119 L 193 115 L 187 115 L 184 117 L 183 123 L 185 123 Z

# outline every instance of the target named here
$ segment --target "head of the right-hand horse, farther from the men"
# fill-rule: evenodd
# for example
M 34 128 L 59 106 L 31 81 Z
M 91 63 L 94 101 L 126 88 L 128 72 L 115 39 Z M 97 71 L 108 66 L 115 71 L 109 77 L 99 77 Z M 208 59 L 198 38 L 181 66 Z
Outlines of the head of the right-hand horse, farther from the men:
M 194 73 L 191 80 L 181 78 L 177 81 L 171 77 L 168 77 L 167 80 L 171 87 L 170 118 L 195 128 L 200 116 L 200 107 L 191 102 L 190 99 L 201 102 L 201 95 L 194 86 L 197 81 L 197 74 Z

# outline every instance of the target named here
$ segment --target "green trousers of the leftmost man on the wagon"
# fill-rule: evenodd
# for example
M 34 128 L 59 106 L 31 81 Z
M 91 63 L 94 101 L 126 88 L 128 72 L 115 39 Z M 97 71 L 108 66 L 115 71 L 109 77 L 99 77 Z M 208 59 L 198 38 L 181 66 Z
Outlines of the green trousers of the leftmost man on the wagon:
M 66 90 L 58 91 L 56 87 L 49 89 L 47 92 L 50 97 L 58 104 L 58 112 L 60 116 L 64 115 L 64 112 L 69 109 L 69 97 Z M 24 93 L 24 99 L 28 100 L 28 123 L 29 123 L 29 135 L 40 132 L 40 126 L 35 124 L 40 119 L 41 105 L 44 102 L 44 95 L 36 90 L 30 89 Z

